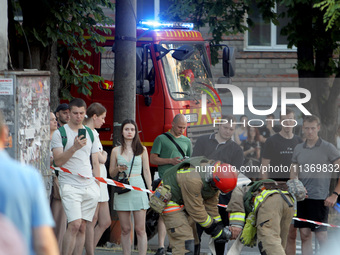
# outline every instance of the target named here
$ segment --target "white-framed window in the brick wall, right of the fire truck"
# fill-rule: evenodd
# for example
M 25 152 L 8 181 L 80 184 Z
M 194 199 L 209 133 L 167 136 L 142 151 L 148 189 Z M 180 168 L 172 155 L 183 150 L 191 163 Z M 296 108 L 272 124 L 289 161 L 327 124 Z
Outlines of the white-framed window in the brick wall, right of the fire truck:
M 279 25 L 265 23 L 262 14 L 253 3 L 252 12 L 249 18 L 254 22 L 254 26 L 246 32 L 246 50 L 256 51 L 295 51 L 296 48 L 287 48 L 287 37 L 281 35 L 281 29 L 288 24 L 289 18 L 279 18 Z M 280 15 L 286 11 L 283 5 L 277 5 L 276 11 Z

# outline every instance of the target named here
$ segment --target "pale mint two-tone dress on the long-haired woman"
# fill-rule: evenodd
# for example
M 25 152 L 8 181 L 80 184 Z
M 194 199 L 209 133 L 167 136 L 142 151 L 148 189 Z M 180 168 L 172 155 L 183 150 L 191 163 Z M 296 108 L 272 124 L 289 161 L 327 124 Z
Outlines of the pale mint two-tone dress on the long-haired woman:
M 132 159 L 127 161 L 122 155 L 117 156 L 118 165 L 127 165 L 126 174 L 130 172 Z M 138 176 L 130 177 L 130 185 L 145 189 L 145 184 L 142 178 L 142 155 L 136 156 L 133 162 L 131 175 L 139 174 Z M 131 190 L 130 192 L 118 195 L 114 194 L 113 209 L 116 211 L 139 211 L 149 208 L 149 200 L 146 192 Z

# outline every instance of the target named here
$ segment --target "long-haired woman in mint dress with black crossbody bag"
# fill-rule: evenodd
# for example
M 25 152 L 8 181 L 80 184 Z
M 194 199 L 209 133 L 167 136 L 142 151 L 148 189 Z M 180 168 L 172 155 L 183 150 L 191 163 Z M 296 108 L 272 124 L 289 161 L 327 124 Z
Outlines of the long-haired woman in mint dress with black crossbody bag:
M 148 152 L 139 140 L 135 121 L 124 120 L 121 128 L 121 146 L 111 152 L 110 175 L 120 172 L 130 173 L 130 185 L 151 190 L 151 173 Z M 146 254 L 147 235 L 145 231 L 146 210 L 149 208 L 145 192 L 131 190 L 124 194 L 114 195 L 114 210 L 117 211 L 121 226 L 121 241 L 124 255 L 131 254 L 131 212 L 133 213 L 135 231 L 137 234 L 138 254 Z

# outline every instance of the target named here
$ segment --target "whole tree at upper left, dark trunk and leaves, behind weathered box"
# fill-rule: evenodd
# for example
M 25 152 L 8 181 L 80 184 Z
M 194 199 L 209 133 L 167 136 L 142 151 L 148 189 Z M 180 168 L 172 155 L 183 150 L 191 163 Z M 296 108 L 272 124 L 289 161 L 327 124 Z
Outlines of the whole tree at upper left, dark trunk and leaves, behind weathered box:
M 70 98 L 70 84 L 91 94 L 91 83 L 101 78 L 92 75 L 93 67 L 78 56 L 90 56 L 87 47 L 103 50 L 97 42 L 105 40 L 100 33 L 109 31 L 95 25 L 113 23 L 102 9 L 113 9 L 113 4 L 109 0 L 9 0 L 8 7 L 13 68 L 20 68 L 18 52 L 24 52 L 24 68 L 51 71 L 51 107 L 59 103 L 60 89 L 63 98 Z

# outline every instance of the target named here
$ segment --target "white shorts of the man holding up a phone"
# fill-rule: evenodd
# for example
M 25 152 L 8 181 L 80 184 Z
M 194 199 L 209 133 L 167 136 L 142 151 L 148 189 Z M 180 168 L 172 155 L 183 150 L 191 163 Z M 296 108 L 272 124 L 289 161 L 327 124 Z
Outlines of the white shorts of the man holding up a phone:
M 78 219 L 92 221 L 100 188 L 96 182 L 86 187 L 60 184 L 60 196 L 68 223 Z

